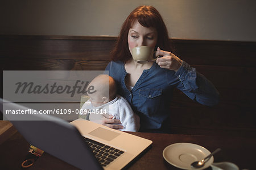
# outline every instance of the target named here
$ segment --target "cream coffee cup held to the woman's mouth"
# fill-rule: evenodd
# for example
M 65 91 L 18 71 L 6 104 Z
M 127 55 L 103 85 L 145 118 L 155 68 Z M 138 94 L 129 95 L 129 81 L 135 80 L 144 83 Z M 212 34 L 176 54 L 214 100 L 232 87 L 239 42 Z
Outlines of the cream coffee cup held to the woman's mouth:
M 133 59 L 140 64 L 155 61 L 159 56 L 155 56 L 156 51 L 148 46 L 139 46 L 131 49 Z

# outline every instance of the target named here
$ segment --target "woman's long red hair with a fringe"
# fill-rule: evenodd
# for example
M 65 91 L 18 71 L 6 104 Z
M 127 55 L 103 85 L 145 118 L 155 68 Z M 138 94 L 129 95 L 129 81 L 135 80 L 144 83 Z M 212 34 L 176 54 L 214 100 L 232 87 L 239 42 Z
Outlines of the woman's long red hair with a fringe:
M 158 10 L 152 6 L 139 6 L 130 13 L 122 24 L 117 42 L 111 52 L 111 59 L 113 61 L 120 60 L 125 62 L 132 58 L 127 39 L 129 30 L 133 27 L 135 20 L 138 20 L 143 27 L 156 28 L 156 31 L 158 32 L 158 42 L 156 43 L 155 49 L 160 47 L 160 49 L 163 49 L 164 51 L 172 51 L 166 25 Z

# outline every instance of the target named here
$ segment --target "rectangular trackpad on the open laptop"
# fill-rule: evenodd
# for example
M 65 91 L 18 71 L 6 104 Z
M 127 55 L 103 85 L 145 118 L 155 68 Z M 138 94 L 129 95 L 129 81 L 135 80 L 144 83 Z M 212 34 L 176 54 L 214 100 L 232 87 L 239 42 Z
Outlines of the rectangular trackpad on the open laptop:
M 96 130 L 89 132 L 89 134 L 108 141 L 120 135 L 118 132 L 107 130 L 102 127 L 96 128 Z

